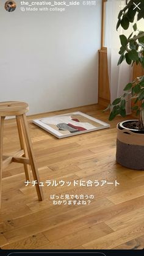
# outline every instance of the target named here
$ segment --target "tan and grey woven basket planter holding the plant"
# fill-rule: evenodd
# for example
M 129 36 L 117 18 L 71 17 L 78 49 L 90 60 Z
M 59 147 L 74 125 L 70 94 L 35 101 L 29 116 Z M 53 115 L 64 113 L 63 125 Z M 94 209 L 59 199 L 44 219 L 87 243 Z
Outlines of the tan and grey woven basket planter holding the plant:
M 118 123 L 116 160 L 129 169 L 144 170 L 144 134 L 120 130 Z

